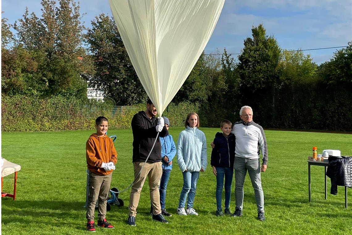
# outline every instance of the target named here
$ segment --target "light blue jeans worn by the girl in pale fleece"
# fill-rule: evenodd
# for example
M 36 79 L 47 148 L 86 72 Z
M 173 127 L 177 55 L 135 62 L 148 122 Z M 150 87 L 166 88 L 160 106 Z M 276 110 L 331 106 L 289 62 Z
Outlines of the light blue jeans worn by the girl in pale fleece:
M 185 171 L 183 174 L 183 187 L 180 194 L 180 201 L 178 202 L 178 208 L 183 208 L 186 204 L 187 199 L 187 209 L 193 208 L 193 201 L 196 195 L 197 181 L 199 178 L 199 171 Z

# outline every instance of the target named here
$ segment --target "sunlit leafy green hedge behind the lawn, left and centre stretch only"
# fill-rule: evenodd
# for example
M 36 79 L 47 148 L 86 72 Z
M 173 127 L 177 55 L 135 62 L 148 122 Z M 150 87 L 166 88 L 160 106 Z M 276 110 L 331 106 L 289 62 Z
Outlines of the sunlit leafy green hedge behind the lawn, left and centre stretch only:
M 39 99 L 16 95 L 1 99 L 2 131 L 61 131 L 94 129 L 95 118 L 105 116 L 109 128 L 130 128 L 134 114 L 146 109 L 146 104 L 123 107 L 113 112 L 110 102 L 90 105 L 86 101 L 61 96 Z M 189 112 L 198 112 L 198 105 L 183 102 L 169 104 L 163 116 L 173 126 L 183 126 Z

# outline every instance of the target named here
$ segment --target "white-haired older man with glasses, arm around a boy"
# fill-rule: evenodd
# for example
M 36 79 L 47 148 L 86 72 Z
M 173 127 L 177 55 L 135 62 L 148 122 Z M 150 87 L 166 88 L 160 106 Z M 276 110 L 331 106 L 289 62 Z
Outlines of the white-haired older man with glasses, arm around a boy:
M 264 221 L 264 193 L 260 172 L 266 171 L 268 149 L 262 126 L 253 122 L 253 110 L 250 106 L 243 106 L 240 110 L 240 122 L 236 122 L 231 133 L 236 137 L 235 147 L 235 199 L 236 209 L 232 216 L 242 216 L 243 185 L 247 174 L 252 181 L 254 197 L 256 198 L 258 219 Z M 259 153 L 262 152 L 263 164 L 260 167 Z

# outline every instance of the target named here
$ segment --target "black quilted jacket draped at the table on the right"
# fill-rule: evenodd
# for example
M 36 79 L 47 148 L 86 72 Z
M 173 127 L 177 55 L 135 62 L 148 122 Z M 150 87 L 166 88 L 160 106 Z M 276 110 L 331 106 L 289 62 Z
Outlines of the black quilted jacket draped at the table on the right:
M 331 194 L 337 194 L 337 186 L 352 188 L 352 157 L 329 155 L 326 176 L 331 179 Z

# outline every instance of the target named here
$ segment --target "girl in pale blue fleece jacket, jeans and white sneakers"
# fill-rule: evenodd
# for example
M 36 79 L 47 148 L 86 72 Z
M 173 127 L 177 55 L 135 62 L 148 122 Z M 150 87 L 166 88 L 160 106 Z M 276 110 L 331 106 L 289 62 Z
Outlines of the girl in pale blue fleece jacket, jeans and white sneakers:
M 208 165 L 207 143 L 203 131 L 199 130 L 199 116 L 195 112 L 187 116 L 185 127 L 177 141 L 177 163 L 183 174 L 183 187 L 178 203 L 178 215 L 198 215 L 193 209 L 199 172 Z M 187 199 L 187 210 L 184 209 Z

